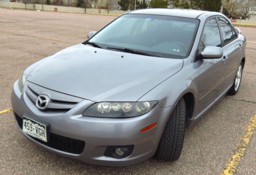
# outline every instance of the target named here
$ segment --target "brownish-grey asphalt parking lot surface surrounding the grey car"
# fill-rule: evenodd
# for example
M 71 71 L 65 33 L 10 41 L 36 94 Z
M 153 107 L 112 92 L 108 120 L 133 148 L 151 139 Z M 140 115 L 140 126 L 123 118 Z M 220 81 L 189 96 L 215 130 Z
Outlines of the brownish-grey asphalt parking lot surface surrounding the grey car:
M 225 96 L 186 129 L 176 162 L 152 158 L 130 167 L 90 165 L 45 151 L 22 136 L 7 110 L 13 82 L 31 63 L 86 40 L 89 31 L 115 18 L 0 8 L 0 174 L 220 174 L 228 168 L 256 174 L 256 28 L 240 27 L 248 42 L 239 93 Z

